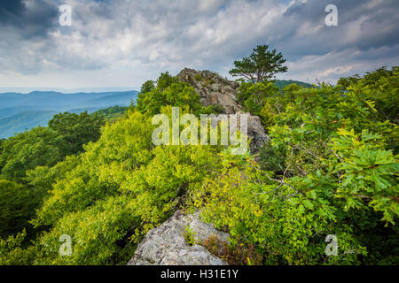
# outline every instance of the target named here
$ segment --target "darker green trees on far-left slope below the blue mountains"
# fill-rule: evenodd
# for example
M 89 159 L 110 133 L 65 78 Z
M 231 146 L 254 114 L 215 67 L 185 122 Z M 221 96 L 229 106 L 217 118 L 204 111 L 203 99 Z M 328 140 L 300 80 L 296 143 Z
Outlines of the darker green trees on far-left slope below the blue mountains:
M 64 113 L 51 120 L 51 127 L 37 127 L 2 142 L 0 176 L 5 180 L 0 180 L 0 237 L 23 228 L 27 228 L 27 240 L 37 233 L 28 221 L 35 217 L 51 185 L 63 176 L 65 169 L 57 163 L 82 150 L 83 143 L 98 139 L 102 123 L 97 114 Z M 74 160 L 68 157 L 64 164 L 76 165 Z

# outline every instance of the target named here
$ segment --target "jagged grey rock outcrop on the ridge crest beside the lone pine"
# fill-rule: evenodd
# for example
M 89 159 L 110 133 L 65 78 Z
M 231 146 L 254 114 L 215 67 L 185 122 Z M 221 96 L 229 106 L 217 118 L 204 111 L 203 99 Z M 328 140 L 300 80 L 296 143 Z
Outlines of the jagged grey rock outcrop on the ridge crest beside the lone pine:
M 226 114 L 244 114 L 242 106 L 237 101 L 238 82 L 222 78 L 214 72 L 187 68 L 182 70 L 177 77 L 195 89 L 204 106 L 220 105 Z M 246 114 L 248 114 L 247 135 L 251 138 L 250 151 L 255 154 L 270 138 L 262 126 L 261 119 L 252 114 Z

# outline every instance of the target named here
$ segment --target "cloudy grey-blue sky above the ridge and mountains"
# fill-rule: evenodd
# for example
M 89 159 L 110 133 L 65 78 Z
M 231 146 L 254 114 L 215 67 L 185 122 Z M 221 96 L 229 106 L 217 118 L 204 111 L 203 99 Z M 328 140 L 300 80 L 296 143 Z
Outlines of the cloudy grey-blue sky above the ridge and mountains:
M 261 44 L 286 58 L 277 79 L 335 83 L 399 65 L 398 27 L 398 0 L 0 0 L 0 90 L 139 89 L 184 67 L 231 79 Z

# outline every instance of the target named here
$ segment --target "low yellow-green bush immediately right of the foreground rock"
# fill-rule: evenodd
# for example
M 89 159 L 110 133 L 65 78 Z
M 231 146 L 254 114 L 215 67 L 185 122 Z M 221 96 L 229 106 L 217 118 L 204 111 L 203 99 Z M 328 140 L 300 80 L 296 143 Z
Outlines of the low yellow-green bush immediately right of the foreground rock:
M 206 221 L 229 230 L 233 245 L 254 245 L 256 253 L 263 255 L 263 264 L 359 263 L 358 254 L 341 254 L 342 259 L 325 256 L 324 237 L 329 233 L 337 235 L 342 249 L 364 254 L 364 247 L 347 233 L 350 227 L 338 222 L 332 203 L 308 194 L 306 184 L 297 191 L 291 185 L 295 180 L 287 185 L 273 181 L 251 159 L 246 164 L 237 164 L 231 157 L 226 161 L 230 165 L 222 177 L 208 180 L 195 199 Z M 296 181 L 299 187 L 301 182 Z

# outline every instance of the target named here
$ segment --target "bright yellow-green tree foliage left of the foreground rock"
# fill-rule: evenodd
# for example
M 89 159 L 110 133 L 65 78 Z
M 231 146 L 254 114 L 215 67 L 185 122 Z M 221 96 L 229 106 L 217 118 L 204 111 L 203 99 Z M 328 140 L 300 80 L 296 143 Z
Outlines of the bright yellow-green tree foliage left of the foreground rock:
M 29 172 L 36 186 L 52 183 L 50 197 L 32 222 L 45 228 L 35 244 L 34 264 L 126 263 L 145 233 L 212 174 L 215 149 L 154 148 L 153 128 L 150 118 L 129 111 L 107 125 L 80 157 Z M 55 178 L 56 172 L 61 176 Z M 59 256 L 62 234 L 72 238 L 71 256 Z

